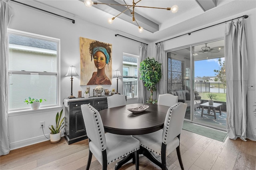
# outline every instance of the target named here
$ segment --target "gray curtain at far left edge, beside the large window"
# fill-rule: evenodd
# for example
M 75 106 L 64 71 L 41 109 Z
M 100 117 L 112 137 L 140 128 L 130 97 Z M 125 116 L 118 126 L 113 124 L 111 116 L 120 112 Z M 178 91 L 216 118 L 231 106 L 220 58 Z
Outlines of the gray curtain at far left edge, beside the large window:
M 0 6 L 0 155 L 10 152 L 8 133 L 8 65 L 7 65 L 7 27 L 12 14 L 8 2 L 1 0 Z

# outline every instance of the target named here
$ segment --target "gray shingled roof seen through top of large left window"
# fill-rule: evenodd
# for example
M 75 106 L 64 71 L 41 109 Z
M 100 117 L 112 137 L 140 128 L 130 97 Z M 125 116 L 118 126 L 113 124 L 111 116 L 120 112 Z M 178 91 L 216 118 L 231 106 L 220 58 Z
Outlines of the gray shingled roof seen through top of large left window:
M 36 47 L 36 48 L 57 51 L 57 45 L 55 42 L 28 38 L 24 36 L 13 35 L 13 34 L 10 34 L 9 36 L 9 43 L 15 44 L 15 45 L 23 45 L 28 47 Z

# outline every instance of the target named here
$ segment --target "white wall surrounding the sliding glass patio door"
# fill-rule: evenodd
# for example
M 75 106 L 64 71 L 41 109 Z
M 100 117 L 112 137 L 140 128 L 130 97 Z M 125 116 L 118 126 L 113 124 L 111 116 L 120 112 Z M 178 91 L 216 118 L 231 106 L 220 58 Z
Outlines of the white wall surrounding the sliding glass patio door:
M 241 14 L 236 14 L 235 16 L 232 16 L 231 18 L 223 18 L 223 20 L 212 23 L 210 25 L 214 25 L 214 24 L 218 24 L 220 22 L 224 22 L 226 20 L 230 20 L 232 18 L 237 18 L 243 15 L 248 15 L 249 18 L 245 19 L 245 23 L 246 23 L 246 36 L 247 36 L 247 50 L 248 50 L 248 68 L 249 68 L 249 79 L 248 79 L 248 84 L 252 84 L 254 85 L 254 90 L 249 90 L 248 91 L 248 97 L 247 97 L 247 112 L 248 114 L 253 115 L 253 111 L 254 109 L 256 109 L 256 107 L 253 107 L 256 103 L 256 90 L 255 90 L 255 86 L 256 86 L 256 9 L 252 9 L 249 10 L 247 12 L 241 13 Z M 206 25 L 210 26 L 210 25 Z M 166 42 L 163 42 L 163 49 L 164 51 L 170 51 L 172 49 L 179 49 L 180 47 L 184 48 L 184 47 L 188 47 L 189 45 L 196 45 L 196 44 L 200 44 L 203 42 L 208 42 L 208 41 L 212 41 L 212 40 L 218 40 L 218 39 L 224 39 L 224 29 L 225 29 L 225 24 L 220 24 L 218 26 L 214 26 L 211 28 L 207 28 L 198 32 L 194 32 L 192 33 L 190 36 L 189 35 L 185 35 L 185 36 L 181 36 L 179 38 L 174 38 L 172 40 L 168 40 Z M 196 30 L 196 29 L 195 29 Z M 192 32 L 194 30 L 188 30 L 187 32 L 184 32 L 182 34 L 186 34 L 188 32 Z M 182 35 L 180 34 L 180 35 Z M 178 36 L 178 35 L 177 35 Z M 172 38 L 172 37 L 170 37 Z M 167 40 L 169 39 L 168 37 L 166 37 Z M 159 40 L 157 42 L 160 42 L 163 40 Z M 150 43 L 150 53 L 152 54 L 152 56 L 156 55 L 156 48 L 155 48 L 155 43 Z M 166 61 L 166 58 L 163 59 L 163 61 Z M 164 65 L 164 71 L 166 70 L 166 64 Z M 166 83 L 166 74 L 164 75 L 165 77 L 165 85 Z M 166 90 L 166 88 L 164 88 Z M 239 103 L 237 103 L 239 105 Z M 256 117 L 252 116 L 250 117 L 250 119 L 248 119 L 248 123 L 250 123 L 250 125 L 252 125 L 252 129 L 247 129 L 247 137 L 250 136 L 249 138 L 251 140 L 256 140 Z M 254 130 L 254 131 L 253 131 Z

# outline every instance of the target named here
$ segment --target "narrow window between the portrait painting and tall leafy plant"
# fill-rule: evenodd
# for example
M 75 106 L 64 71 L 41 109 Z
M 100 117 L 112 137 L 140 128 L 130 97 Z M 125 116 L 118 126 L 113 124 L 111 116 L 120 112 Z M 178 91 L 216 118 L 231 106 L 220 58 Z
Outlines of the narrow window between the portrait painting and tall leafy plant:
M 123 53 L 123 93 L 130 97 L 131 87 L 134 87 L 134 95 L 138 96 L 138 55 Z

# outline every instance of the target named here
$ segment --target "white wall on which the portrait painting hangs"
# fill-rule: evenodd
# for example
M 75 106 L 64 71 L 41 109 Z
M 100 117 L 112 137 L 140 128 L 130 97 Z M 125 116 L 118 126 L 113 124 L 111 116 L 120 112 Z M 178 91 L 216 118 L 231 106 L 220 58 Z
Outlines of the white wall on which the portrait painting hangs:
M 127 36 L 124 33 L 108 30 L 101 26 L 80 20 L 74 16 L 70 16 L 69 14 L 63 14 L 61 11 L 55 12 L 76 20 L 76 23 L 72 24 L 70 20 L 47 14 L 14 2 L 10 2 L 10 6 L 13 10 L 13 16 L 9 28 L 60 39 L 60 103 L 62 103 L 64 98 L 70 96 L 71 92 L 70 77 L 65 76 L 68 71 L 68 67 L 70 65 L 76 66 L 78 75 L 80 75 L 80 37 L 112 44 L 113 73 L 116 69 L 122 71 L 123 52 L 139 55 L 140 43 L 115 36 L 115 34 Z M 138 40 L 138 38 L 136 40 Z M 145 42 L 144 40 L 139 41 Z M 116 89 L 116 79 L 112 79 L 112 85 L 102 86 L 106 89 Z M 87 86 L 80 86 L 80 76 L 74 77 L 74 96 L 77 97 L 78 90 L 85 91 L 86 87 Z M 92 89 L 94 88 L 95 86 L 90 85 L 91 94 L 93 91 Z M 119 80 L 118 89 L 122 92 L 122 79 Z M 131 102 L 136 103 L 134 100 L 129 101 L 129 103 Z M 43 136 L 42 128 L 39 128 L 39 122 L 45 121 L 46 127 L 44 128 L 44 133 L 48 135 L 50 130 L 48 130 L 47 126 L 52 124 L 54 125 L 55 115 L 57 111 L 60 110 L 61 107 L 9 114 L 8 127 L 11 149 L 47 140 Z

